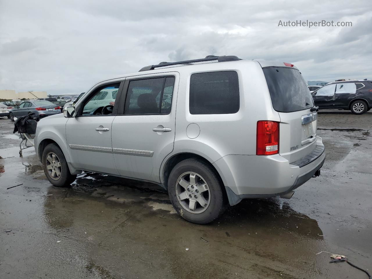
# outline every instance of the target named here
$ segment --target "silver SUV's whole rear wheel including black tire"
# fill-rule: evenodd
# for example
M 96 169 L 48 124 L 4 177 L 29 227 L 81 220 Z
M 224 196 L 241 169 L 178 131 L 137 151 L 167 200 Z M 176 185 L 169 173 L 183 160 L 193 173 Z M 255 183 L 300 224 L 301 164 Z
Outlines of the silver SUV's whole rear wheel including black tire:
M 217 173 L 197 159 L 183 160 L 173 168 L 168 179 L 168 193 L 177 213 L 195 224 L 214 221 L 227 207 L 227 197 Z

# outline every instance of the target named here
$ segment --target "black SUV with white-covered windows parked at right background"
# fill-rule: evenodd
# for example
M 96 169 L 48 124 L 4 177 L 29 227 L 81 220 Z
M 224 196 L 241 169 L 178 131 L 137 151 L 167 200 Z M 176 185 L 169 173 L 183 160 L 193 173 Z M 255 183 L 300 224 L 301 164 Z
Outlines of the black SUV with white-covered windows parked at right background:
M 320 109 L 349 109 L 363 114 L 372 108 L 372 80 L 335 81 L 311 94 Z

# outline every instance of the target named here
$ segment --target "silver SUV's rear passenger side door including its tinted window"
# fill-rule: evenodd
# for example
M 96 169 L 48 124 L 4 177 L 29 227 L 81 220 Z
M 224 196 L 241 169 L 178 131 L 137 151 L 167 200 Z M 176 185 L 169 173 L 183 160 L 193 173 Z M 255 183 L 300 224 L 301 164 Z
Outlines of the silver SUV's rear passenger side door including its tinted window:
M 122 176 L 160 182 L 161 162 L 173 151 L 177 74 L 126 80 L 112 148 Z M 124 102 L 125 101 L 125 102 Z M 119 115 L 120 114 L 120 115 Z

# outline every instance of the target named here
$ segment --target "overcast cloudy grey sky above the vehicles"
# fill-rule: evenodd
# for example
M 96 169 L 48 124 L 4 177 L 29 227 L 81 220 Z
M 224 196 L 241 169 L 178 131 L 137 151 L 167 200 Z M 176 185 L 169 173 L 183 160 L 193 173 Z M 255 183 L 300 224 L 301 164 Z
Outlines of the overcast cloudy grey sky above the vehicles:
M 372 78 L 369 0 L 292 2 L 0 0 L 0 90 L 78 94 L 145 65 L 211 54 L 292 62 L 306 80 Z

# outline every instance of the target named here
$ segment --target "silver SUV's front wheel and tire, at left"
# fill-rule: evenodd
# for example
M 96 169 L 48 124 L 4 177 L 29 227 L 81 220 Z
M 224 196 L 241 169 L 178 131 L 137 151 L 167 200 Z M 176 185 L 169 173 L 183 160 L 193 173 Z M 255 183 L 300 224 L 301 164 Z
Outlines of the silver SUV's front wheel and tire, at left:
M 65 156 L 57 144 L 51 143 L 44 148 L 42 164 L 45 176 L 47 176 L 49 182 L 54 186 L 67 187 L 76 179 L 76 175 L 70 173 Z M 53 170 L 55 170 L 54 173 Z M 60 174 L 59 176 L 58 172 Z

